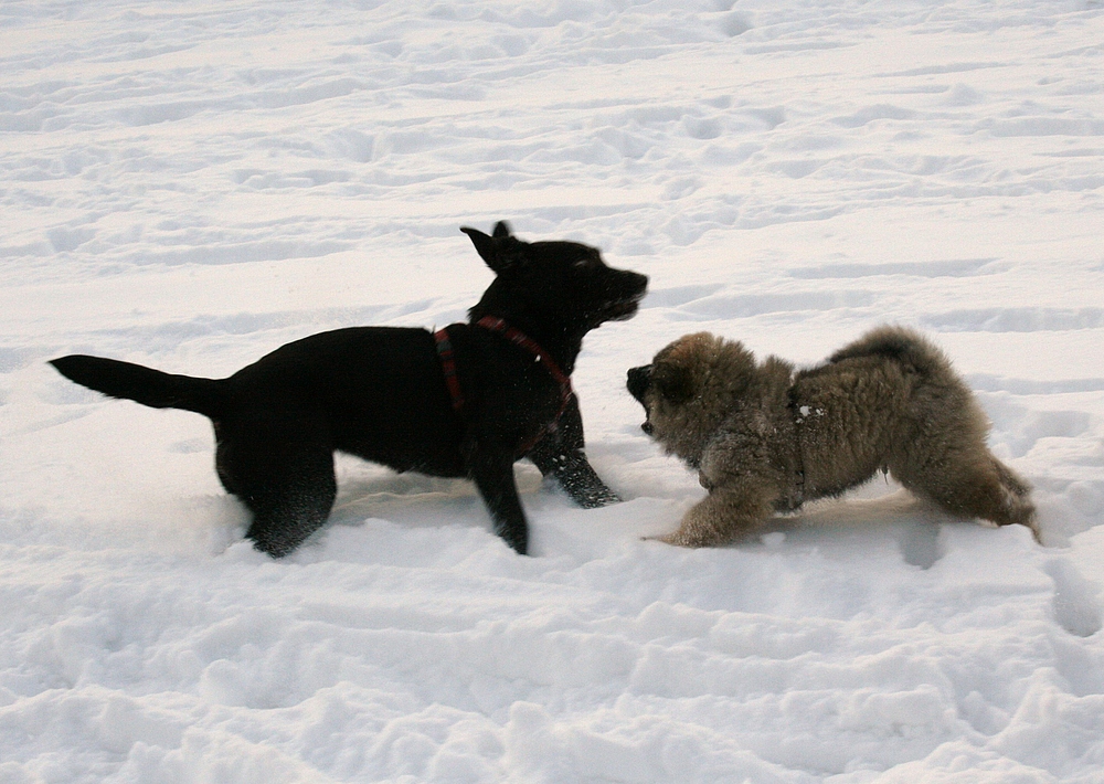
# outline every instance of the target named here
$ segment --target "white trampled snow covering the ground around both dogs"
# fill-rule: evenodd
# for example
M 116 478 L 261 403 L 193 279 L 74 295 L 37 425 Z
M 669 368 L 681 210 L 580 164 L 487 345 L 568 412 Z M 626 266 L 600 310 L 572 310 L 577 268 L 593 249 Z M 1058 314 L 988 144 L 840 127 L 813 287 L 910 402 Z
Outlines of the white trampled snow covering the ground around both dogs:
M 6 0 L 0 74 L 0 782 L 1104 782 L 1098 0 Z M 575 374 L 628 500 L 519 465 L 534 558 L 467 483 L 339 458 L 270 561 L 204 419 L 45 364 L 444 325 L 499 219 L 651 277 Z M 640 541 L 703 491 L 627 368 L 885 321 L 1047 547 L 882 479 Z

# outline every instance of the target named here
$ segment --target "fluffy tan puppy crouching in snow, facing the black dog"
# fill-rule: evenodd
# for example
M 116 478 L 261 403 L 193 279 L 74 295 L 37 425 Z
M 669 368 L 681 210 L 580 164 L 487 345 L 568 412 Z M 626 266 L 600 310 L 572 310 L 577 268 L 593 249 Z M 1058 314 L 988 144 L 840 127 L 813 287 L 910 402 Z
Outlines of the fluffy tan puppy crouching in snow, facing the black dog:
M 838 496 L 878 470 L 951 515 L 1018 523 L 1039 541 L 1030 488 L 986 447 L 989 422 L 940 349 L 880 327 L 795 372 L 740 342 L 687 335 L 628 371 L 644 431 L 709 496 L 662 541 L 711 547 L 772 513 Z

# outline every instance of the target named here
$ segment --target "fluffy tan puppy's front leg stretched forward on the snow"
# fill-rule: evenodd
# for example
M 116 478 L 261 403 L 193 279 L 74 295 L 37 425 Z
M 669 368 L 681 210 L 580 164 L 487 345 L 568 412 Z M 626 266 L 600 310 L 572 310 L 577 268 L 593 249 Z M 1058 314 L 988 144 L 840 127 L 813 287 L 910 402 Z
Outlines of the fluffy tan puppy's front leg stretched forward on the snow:
M 761 528 L 777 497 L 769 485 L 716 487 L 683 516 L 677 531 L 657 539 L 686 548 L 725 544 Z

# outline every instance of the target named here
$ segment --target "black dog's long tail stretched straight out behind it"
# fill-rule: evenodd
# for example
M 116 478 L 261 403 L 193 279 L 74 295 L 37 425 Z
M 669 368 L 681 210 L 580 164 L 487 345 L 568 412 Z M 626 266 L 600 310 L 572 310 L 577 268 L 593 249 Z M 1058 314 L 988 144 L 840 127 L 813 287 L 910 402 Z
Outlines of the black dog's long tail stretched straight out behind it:
M 50 361 L 62 375 L 112 398 L 132 400 L 153 409 L 183 409 L 219 416 L 226 403 L 225 382 L 173 375 L 116 359 L 71 354 Z

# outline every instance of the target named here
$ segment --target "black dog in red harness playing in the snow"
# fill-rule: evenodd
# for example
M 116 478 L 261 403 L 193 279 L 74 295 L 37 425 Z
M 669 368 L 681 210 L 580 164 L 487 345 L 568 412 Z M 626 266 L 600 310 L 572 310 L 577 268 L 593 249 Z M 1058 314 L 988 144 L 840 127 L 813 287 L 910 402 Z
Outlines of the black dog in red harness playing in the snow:
M 529 457 L 584 507 L 619 500 L 583 453 L 567 377 L 583 336 L 630 318 L 648 278 L 607 267 L 587 245 L 522 242 L 506 223 L 493 236 L 460 231 L 496 278 L 467 324 L 436 335 L 321 332 L 222 380 L 86 356 L 52 364 L 113 398 L 210 417 L 219 479 L 253 512 L 246 537 L 274 558 L 326 522 L 337 494 L 335 449 L 399 472 L 474 479 L 495 531 L 524 554 L 516 460 Z

